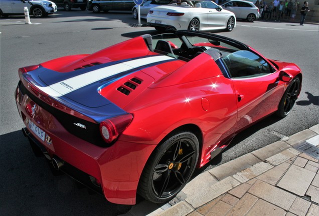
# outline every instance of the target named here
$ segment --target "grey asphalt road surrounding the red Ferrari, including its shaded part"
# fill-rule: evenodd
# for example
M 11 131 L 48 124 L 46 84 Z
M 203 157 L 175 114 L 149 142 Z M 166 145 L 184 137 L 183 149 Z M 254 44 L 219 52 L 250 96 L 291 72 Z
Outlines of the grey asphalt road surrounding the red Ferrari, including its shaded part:
M 94 14 L 59 10 L 46 18 L 0 19 L 0 215 L 117 215 L 129 206 L 77 188 L 69 177 L 53 176 L 44 158 L 34 156 L 21 128 L 14 90 L 18 68 L 59 56 L 92 53 L 131 37 L 156 31 L 131 27 L 130 13 Z M 143 21 L 144 22 L 144 21 Z M 302 90 L 291 113 L 270 116 L 238 134 L 230 147 L 199 171 L 258 149 L 319 121 L 319 25 L 238 21 L 232 32 L 215 32 L 247 43 L 266 57 L 297 63 L 303 71 Z

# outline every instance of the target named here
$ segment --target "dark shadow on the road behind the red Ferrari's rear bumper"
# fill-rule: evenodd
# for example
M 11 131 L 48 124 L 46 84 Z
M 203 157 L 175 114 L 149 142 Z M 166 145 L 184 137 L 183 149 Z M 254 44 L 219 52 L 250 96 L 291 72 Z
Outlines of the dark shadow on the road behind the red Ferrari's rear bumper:
M 79 188 L 67 175 L 54 176 L 44 157 L 36 157 L 21 130 L 0 135 L 2 215 L 118 215 L 131 206 L 108 202 Z

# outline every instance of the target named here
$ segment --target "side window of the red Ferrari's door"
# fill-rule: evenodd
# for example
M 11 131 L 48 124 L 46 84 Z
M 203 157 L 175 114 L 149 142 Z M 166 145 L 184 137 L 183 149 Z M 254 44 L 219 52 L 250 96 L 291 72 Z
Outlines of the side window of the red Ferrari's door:
M 233 52 L 222 59 L 232 78 L 256 77 L 273 71 L 265 59 L 247 50 Z

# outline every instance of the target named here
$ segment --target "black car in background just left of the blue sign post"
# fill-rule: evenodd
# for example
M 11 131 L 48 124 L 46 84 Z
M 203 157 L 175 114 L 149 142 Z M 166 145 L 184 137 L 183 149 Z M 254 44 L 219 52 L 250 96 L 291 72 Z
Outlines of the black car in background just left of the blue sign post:
M 135 3 L 133 0 L 89 0 L 87 9 L 95 13 L 101 10 L 107 12 L 109 10 L 132 10 Z

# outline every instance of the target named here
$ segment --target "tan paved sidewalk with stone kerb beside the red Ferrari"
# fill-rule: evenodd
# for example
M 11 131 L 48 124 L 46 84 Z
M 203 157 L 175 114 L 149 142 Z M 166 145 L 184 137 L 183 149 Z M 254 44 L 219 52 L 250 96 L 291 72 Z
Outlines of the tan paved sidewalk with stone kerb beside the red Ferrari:
M 159 206 L 144 200 L 122 216 L 317 216 L 315 146 L 319 124 L 199 174 L 169 203 Z

